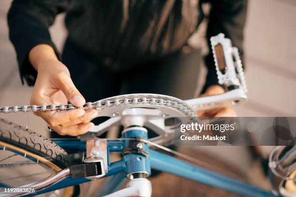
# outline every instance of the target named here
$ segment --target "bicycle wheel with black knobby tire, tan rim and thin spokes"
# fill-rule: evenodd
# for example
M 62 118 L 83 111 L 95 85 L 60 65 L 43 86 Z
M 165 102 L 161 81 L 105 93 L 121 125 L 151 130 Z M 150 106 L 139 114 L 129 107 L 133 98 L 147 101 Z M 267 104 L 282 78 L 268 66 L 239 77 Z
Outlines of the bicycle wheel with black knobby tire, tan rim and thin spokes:
M 68 167 L 71 157 L 55 142 L 0 119 L 0 186 L 17 187 L 46 178 Z M 74 186 L 42 196 L 70 197 Z

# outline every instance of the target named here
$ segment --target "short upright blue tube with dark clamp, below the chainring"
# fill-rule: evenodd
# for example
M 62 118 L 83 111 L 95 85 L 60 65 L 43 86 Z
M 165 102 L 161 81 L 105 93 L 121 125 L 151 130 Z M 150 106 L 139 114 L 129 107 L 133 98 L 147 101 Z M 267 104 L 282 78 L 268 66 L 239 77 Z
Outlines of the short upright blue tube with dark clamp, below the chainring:
M 122 131 L 123 138 L 134 138 L 126 140 L 123 149 L 123 160 L 125 163 L 125 175 L 128 179 L 146 178 L 151 174 L 149 162 L 148 144 L 140 139 L 148 138 L 148 131 L 144 127 L 128 127 Z

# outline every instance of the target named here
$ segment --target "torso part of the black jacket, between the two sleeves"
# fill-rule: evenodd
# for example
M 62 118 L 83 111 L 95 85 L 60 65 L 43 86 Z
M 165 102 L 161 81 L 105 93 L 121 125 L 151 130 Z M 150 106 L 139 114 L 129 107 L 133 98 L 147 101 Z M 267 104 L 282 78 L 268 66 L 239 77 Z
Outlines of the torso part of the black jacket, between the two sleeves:
M 73 0 L 66 27 L 89 53 L 125 61 L 178 51 L 201 17 L 198 0 Z

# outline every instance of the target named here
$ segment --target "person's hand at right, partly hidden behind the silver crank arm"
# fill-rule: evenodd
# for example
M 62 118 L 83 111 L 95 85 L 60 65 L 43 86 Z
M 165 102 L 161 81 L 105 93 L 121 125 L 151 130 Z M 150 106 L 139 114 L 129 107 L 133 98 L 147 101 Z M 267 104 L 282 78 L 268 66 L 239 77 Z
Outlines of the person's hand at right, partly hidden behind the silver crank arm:
M 201 97 L 217 95 L 224 93 L 224 89 L 220 85 L 211 85 Z M 195 112 L 198 117 L 235 117 L 237 113 L 231 107 L 217 108 L 212 110 L 202 110 Z

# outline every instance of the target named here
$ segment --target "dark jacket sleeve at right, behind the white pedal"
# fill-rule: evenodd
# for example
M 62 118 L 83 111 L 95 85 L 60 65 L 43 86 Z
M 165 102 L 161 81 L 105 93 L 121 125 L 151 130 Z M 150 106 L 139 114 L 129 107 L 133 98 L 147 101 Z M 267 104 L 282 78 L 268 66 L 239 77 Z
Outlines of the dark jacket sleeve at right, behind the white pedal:
M 219 33 L 224 33 L 226 38 L 230 38 L 233 46 L 239 50 L 243 61 L 243 28 L 246 21 L 247 0 L 210 0 L 211 11 L 207 26 L 207 44 L 209 53 L 205 57 L 207 66 L 207 78 L 202 92 L 213 84 L 218 84 L 215 70 L 214 58 L 210 46 L 210 37 Z

